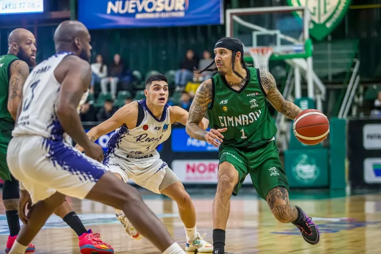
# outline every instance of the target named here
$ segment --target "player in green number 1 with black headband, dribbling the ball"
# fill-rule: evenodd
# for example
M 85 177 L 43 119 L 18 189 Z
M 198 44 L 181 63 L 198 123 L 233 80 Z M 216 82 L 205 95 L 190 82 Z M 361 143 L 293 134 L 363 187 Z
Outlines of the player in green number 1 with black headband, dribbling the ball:
M 291 222 L 309 244 L 320 239 L 318 227 L 288 199 L 288 180 L 275 142 L 277 127 L 266 99 L 280 113 L 294 119 L 301 109 L 287 102 L 274 77 L 247 67 L 238 39 L 223 38 L 214 49 L 218 74 L 198 88 L 189 110 L 187 133 L 219 147 L 218 185 L 213 203 L 213 254 L 225 252 L 225 230 L 230 197 L 237 195 L 247 174 L 257 193 L 267 201 L 275 218 Z M 202 71 L 209 69 L 213 62 Z M 198 124 L 208 112 L 210 131 Z

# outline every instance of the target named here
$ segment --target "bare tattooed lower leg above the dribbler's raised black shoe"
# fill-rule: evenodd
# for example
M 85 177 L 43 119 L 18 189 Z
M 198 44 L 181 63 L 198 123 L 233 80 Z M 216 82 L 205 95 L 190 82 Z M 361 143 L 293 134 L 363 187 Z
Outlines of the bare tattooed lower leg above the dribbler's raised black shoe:
M 293 222 L 298 218 L 298 210 L 289 203 L 288 191 L 285 187 L 275 187 L 266 197 L 274 217 L 283 223 Z

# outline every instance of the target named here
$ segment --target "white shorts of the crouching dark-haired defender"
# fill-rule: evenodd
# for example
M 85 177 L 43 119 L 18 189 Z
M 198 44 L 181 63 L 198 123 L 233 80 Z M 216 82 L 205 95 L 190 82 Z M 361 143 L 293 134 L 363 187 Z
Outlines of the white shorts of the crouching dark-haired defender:
M 109 171 L 120 174 L 124 182 L 127 183 L 128 179 L 131 179 L 139 186 L 157 194 L 179 181 L 157 151 L 141 158 L 121 158 L 110 154 L 104 157 L 103 164 Z M 164 177 L 167 181 L 163 182 Z

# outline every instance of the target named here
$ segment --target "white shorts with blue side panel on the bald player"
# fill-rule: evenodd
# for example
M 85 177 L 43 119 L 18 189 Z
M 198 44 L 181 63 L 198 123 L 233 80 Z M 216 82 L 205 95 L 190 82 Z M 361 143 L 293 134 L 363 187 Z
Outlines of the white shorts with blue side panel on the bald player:
M 100 162 L 63 141 L 41 136 L 13 138 L 7 150 L 7 163 L 33 203 L 55 192 L 84 199 L 107 171 Z

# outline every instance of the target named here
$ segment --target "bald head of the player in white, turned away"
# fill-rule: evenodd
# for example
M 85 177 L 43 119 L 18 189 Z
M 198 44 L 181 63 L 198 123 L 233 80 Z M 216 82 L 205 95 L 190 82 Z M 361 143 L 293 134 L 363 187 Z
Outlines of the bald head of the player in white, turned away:
M 90 34 L 84 24 L 75 20 L 63 21 L 54 32 L 55 51 L 70 51 L 90 60 Z

